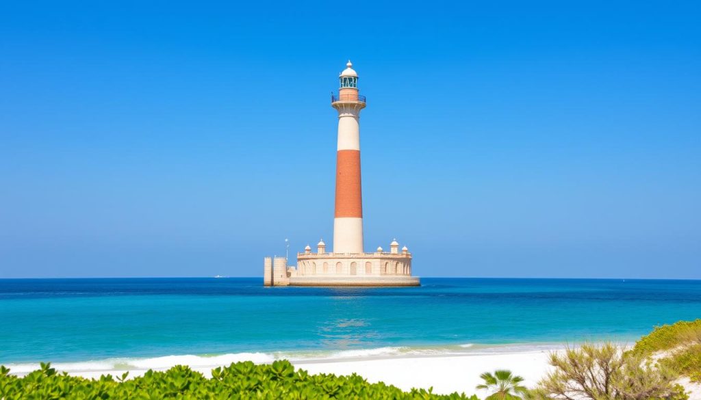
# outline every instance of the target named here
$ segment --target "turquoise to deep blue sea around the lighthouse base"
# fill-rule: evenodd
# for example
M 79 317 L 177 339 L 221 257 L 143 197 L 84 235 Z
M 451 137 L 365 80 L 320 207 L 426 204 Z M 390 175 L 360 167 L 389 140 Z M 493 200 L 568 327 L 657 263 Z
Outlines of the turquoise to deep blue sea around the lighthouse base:
M 655 325 L 701 318 L 701 281 L 421 283 L 334 289 L 266 288 L 260 278 L 0 280 L 0 364 L 632 343 Z

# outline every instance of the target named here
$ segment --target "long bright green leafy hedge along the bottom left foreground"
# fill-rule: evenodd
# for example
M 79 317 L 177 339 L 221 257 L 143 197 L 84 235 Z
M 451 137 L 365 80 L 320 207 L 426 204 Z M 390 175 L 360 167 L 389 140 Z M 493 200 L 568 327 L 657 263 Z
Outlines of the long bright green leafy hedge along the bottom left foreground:
M 432 389 L 411 389 L 402 392 L 382 382 L 368 383 L 359 375 L 309 375 L 295 371 L 289 361 L 255 365 L 250 361 L 212 370 L 212 378 L 186 366 L 174 366 L 165 372 L 147 371 L 143 376 L 127 379 L 102 375 L 86 379 L 57 373 L 50 364 L 18 378 L 8 368 L 0 366 L 0 399 L 466 399 L 479 400 L 465 394 L 439 395 Z

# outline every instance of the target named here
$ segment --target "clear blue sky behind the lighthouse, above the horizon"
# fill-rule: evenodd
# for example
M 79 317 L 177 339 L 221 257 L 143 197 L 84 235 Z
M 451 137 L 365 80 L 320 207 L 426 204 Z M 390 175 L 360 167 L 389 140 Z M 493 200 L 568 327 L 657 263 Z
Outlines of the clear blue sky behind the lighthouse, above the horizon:
M 421 276 L 701 279 L 698 1 L 4 1 L 0 277 L 259 276 L 332 240 L 348 58 L 365 247 Z

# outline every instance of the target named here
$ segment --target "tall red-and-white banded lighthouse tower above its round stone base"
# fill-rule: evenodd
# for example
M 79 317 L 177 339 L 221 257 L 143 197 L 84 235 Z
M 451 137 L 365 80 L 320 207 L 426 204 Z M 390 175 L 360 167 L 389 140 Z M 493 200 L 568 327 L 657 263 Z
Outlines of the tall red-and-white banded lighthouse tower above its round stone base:
M 350 60 L 339 81 L 339 93 L 331 97 L 331 105 L 339 112 L 333 251 L 362 253 L 360 110 L 365 108 L 365 96 L 358 94 L 358 74 Z

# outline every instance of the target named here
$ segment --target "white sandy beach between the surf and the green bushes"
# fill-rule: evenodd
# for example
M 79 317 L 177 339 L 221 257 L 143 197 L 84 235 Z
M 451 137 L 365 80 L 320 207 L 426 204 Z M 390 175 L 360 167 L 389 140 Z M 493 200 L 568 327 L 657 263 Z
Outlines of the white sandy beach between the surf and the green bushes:
M 559 347 L 562 350 L 563 347 Z M 381 349 L 378 349 L 381 350 Z M 496 369 L 509 369 L 524 378 L 527 387 L 533 387 L 549 371 L 548 354 L 557 348 L 498 349 L 496 352 L 464 352 L 462 354 L 434 355 L 364 355 L 360 357 L 334 357 L 322 359 L 292 359 L 292 364 L 308 373 L 334 373 L 351 375 L 357 373 L 369 382 L 385 382 L 403 390 L 411 388 L 428 389 L 433 387 L 437 394 L 464 392 L 484 397 L 485 392 L 475 389 L 482 381 L 479 375 Z M 115 368 L 118 364 L 96 361 L 70 364 L 54 364 L 59 371 L 84 378 L 100 378 L 100 375 L 121 375 L 129 371 L 130 377 L 142 375 L 149 369 L 165 371 L 171 366 L 187 364 L 193 370 L 211 376 L 212 368 L 226 366 L 236 361 L 254 361 L 257 364 L 270 362 L 271 358 L 263 353 L 225 354 L 217 357 L 198 357 L 193 355 L 168 356 L 154 359 L 130 360 L 130 368 Z M 11 366 L 13 373 L 25 373 L 39 368 L 39 365 L 20 364 Z M 693 384 L 683 378 L 680 383 L 690 391 L 690 400 L 701 400 L 701 385 Z

